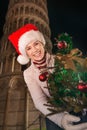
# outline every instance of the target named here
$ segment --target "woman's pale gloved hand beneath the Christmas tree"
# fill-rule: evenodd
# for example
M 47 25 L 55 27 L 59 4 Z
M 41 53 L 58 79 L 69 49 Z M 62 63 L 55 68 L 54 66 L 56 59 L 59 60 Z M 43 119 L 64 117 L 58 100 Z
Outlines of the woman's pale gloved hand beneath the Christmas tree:
M 74 125 L 74 122 L 79 122 L 80 118 L 66 113 L 62 118 L 62 126 L 65 130 L 87 130 L 87 123 Z

